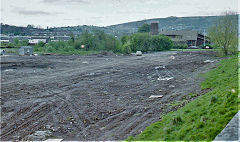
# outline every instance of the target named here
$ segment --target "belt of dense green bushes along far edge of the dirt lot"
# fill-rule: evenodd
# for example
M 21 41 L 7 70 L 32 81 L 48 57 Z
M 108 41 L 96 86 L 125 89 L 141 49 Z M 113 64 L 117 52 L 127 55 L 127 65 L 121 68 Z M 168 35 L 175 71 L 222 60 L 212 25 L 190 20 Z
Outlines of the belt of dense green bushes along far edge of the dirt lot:
M 85 48 L 82 49 L 81 45 Z M 173 42 L 166 36 L 152 36 L 149 33 L 136 33 L 131 36 L 123 36 L 120 40 L 112 35 L 107 35 L 103 31 L 95 31 L 94 34 L 85 31 L 80 37 L 74 40 L 39 43 L 35 46 L 38 52 L 57 53 L 80 53 L 88 51 L 113 51 L 115 53 L 131 53 L 138 50 L 162 51 L 172 48 Z

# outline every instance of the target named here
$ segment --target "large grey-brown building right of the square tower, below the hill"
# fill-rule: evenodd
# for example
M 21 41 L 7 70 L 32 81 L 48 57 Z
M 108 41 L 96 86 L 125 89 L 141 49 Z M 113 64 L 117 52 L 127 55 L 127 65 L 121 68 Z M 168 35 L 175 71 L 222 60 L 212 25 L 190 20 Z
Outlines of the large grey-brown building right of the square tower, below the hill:
M 203 34 L 197 31 L 160 31 L 159 34 L 170 37 L 175 43 L 187 44 L 188 46 L 201 46 L 209 43 L 209 40 Z

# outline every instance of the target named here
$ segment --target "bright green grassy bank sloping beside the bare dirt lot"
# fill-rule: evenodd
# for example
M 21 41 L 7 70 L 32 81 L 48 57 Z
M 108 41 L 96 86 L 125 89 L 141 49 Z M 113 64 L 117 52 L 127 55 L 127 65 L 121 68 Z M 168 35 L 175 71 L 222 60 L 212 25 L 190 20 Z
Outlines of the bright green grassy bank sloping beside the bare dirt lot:
M 205 77 L 201 88 L 212 91 L 127 140 L 213 140 L 238 111 L 238 58 L 222 60 Z

